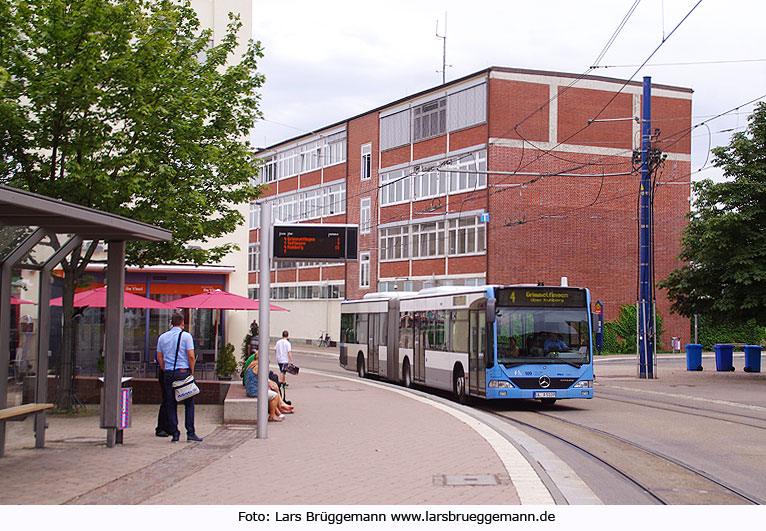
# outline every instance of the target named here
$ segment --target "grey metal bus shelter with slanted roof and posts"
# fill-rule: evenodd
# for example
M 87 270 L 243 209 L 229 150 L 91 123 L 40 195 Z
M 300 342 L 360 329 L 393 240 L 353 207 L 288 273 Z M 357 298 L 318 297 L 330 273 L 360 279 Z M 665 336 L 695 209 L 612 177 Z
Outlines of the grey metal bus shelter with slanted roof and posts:
M 101 404 L 102 427 L 108 447 L 116 444 L 120 425 L 122 381 L 123 304 L 125 290 L 125 242 L 130 240 L 170 241 L 165 229 L 122 216 L 51 199 L 9 186 L 0 185 L 0 410 L 7 407 L 8 367 L 10 364 L 10 307 L 14 268 L 39 270 L 39 313 L 35 403 L 48 400 L 48 335 L 50 329 L 50 278 L 54 268 L 85 240 L 108 244 L 107 321 L 104 344 L 104 395 Z M 52 236 L 63 244 L 34 266 L 25 259 L 37 246 Z M 35 413 L 35 446 L 45 445 L 45 411 Z M 5 420 L 0 420 L 0 457 L 5 452 Z

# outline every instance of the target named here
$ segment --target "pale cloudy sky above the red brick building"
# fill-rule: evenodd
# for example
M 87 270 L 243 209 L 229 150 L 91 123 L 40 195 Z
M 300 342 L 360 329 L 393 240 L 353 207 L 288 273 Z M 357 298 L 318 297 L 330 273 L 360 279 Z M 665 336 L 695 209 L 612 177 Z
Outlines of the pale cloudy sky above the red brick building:
M 252 1 L 266 76 L 257 147 L 440 85 L 437 24 L 448 82 L 489 66 L 599 66 L 590 73 L 693 89 L 693 180 L 722 179 L 710 147 L 745 129 L 747 102 L 766 99 L 762 0 Z

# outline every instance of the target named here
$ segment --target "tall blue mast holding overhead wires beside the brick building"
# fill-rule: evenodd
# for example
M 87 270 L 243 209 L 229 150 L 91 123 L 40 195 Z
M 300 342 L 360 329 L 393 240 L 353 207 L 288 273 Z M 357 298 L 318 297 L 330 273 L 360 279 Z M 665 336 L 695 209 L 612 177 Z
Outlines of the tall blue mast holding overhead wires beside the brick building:
M 652 183 L 649 149 L 652 131 L 652 78 L 644 77 L 641 119 L 641 207 L 639 213 L 639 378 L 654 377 L 654 295 L 652 286 Z

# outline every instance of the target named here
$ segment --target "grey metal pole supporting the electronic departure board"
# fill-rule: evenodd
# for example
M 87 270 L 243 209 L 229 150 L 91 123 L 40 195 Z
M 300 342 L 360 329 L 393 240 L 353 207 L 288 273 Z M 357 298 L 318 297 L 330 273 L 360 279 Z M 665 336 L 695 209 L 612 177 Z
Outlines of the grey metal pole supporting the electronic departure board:
M 269 307 L 271 306 L 271 203 L 259 201 L 261 207 L 261 255 L 258 271 L 258 420 L 257 437 L 265 439 L 268 436 L 269 418 Z

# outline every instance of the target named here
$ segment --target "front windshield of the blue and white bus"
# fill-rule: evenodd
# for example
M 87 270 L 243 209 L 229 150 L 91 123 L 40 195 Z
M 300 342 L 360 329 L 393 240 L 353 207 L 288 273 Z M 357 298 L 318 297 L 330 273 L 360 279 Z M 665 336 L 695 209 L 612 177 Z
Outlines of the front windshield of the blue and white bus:
M 579 308 L 498 308 L 497 362 L 590 363 L 588 312 Z

